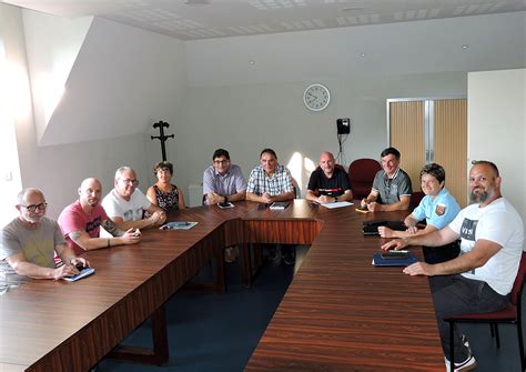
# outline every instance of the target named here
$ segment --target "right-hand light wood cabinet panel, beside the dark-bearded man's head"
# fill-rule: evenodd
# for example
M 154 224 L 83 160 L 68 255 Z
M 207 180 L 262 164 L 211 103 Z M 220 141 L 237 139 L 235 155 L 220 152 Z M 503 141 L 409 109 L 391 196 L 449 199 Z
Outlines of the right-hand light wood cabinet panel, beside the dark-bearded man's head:
M 435 101 L 435 162 L 446 170 L 446 187 L 467 205 L 467 101 Z

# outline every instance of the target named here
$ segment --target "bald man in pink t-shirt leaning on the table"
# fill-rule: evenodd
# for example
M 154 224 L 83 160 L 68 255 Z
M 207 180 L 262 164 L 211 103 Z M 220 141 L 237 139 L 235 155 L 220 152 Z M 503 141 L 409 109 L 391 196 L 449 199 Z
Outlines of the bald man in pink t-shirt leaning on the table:
M 121 244 L 135 244 L 141 234 L 135 229 L 123 231 L 108 218 L 99 203 L 102 187 L 98 179 L 89 178 L 79 188 L 79 200 L 64 208 L 59 217 L 59 225 L 68 245 L 82 254 L 84 251 Z M 100 238 L 103 227 L 113 238 Z

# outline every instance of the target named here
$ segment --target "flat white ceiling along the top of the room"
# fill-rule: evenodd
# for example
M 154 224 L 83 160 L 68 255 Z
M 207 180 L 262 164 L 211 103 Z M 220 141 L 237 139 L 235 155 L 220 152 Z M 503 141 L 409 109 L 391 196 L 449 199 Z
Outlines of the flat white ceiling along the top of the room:
M 526 10 L 526 0 L 6 0 L 94 16 L 182 40 L 305 31 Z

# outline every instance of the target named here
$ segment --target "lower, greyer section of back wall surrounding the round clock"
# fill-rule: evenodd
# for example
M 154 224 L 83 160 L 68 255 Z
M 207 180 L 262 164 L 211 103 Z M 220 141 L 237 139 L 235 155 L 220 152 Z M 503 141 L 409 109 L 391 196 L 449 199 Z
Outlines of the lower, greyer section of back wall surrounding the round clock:
M 461 72 L 324 82 L 333 98 L 323 112 L 305 108 L 302 82 L 189 88 L 173 129 L 176 139 L 166 142 L 175 181 L 182 187 L 201 182 L 220 147 L 229 149 L 245 177 L 265 147 L 273 148 L 282 163 L 300 152 L 317 164 L 321 151 L 337 152 L 337 118 L 353 119 L 345 164 L 363 157 L 378 159 L 388 144 L 386 99 L 466 94 L 466 74 Z M 307 181 L 304 172 L 302 185 Z

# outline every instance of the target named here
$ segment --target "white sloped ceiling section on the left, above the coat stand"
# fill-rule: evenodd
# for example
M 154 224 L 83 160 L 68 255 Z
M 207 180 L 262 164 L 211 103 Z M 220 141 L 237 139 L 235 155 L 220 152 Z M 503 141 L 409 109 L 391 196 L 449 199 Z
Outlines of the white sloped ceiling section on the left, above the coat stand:
M 174 117 L 184 80 L 181 41 L 94 19 L 58 105 L 40 118 L 47 120 L 39 144 L 144 133 Z

